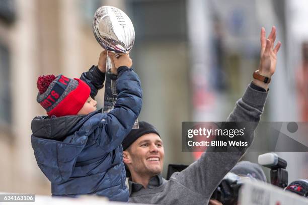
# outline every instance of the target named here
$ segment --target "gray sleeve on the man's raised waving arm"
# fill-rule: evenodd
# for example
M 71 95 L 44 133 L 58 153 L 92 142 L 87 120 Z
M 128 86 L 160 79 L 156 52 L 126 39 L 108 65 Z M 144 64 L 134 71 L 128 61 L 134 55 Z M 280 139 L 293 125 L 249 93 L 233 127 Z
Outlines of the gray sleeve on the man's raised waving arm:
M 227 121 L 255 122 L 247 123 L 245 139 L 252 142 L 254 130 L 261 118 L 268 92 L 262 92 L 248 86 L 243 97 L 236 103 Z M 177 180 L 190 190 L 210 197 L 224 175 L 240 160 L 248 147 L 241 147 L 230 152 L 216 152 L 218 147 L 209 147 L 196 162 L 182 172 L 175 173 L 171 178 Z

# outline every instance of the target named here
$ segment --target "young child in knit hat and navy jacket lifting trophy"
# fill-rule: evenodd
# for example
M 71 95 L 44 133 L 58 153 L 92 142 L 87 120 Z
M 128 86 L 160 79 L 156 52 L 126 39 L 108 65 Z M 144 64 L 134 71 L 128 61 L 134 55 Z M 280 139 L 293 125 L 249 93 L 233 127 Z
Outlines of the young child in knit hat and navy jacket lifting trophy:
M 128 201 L 121 142 L 140 113 L 142 90 L 129 55 L 110 57 L 118 98 L 108 114 L 95 111 L 94 100 L 105 79 L 105 51 L 80 79 L 38 78 L 37 102 L 48 116 L 33 119 L 31 143 L 53 196 L 96 194 Z

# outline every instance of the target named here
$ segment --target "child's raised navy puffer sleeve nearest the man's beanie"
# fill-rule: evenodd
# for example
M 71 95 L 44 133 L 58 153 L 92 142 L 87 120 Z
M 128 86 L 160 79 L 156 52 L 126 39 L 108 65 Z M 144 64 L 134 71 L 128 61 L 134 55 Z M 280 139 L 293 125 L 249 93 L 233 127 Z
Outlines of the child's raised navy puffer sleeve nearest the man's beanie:
M 119 146 L 130 132 L 142 105 L 142 89 L 138 75 L 126 66 L 119 67 L 117 72 L 118 97 L 114 109 L 107 114 L 104 126 L 109 137 L 110 150 Z

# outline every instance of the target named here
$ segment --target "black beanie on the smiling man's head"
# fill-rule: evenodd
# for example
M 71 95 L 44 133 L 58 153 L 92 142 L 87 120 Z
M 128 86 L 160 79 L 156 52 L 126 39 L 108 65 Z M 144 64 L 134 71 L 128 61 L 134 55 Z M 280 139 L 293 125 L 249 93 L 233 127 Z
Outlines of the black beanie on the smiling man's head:
M 124 138 L 122 142 L 123 150 L 126 150 L 139 137 L 148 133 L 155 133 L 160 136 L 154 126 L 144 121 L 139 122 L 139 129 L 132 129 L 130 133 Z

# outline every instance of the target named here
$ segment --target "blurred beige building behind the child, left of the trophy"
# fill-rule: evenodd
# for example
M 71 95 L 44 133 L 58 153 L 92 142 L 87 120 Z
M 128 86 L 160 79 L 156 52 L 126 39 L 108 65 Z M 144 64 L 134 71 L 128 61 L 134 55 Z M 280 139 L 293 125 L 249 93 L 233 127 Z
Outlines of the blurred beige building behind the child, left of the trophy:
M 50 194 L 30 142 L 30 123 L 44 110 L 36 79 L 43 74 L 79 77 L 101 48 L 92 16 L 101 1 L 2 1 L 0 5 L 0 190 Z M 102 98 L 102 97 L 101 97 Z

